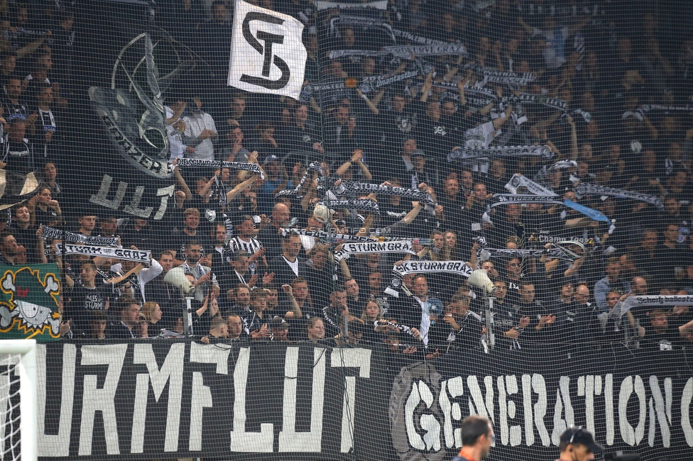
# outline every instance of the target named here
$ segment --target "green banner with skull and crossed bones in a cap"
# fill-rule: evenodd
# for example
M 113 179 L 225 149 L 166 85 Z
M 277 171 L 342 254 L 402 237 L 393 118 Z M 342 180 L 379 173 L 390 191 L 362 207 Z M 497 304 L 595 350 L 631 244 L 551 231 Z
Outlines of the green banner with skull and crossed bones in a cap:
M 0 265 L 2 339 L 60 338 L 60 272 L 55 264 Z

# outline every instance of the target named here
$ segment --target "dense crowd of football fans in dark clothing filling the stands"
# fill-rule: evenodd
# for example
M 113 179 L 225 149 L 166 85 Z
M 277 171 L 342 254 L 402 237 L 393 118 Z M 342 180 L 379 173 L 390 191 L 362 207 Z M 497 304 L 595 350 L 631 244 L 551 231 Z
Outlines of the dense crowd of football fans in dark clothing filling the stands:
M 501 347 L 602 340 L 663 350 L 693 340 L 692 307 L 619 307 L 633 295 L 693 294 L 692 38 L 667 33 L 656 10 L 618 2 L 393 0 L 384 10 L 327 3 L 259 2 L 305 23 L 297 101 L 225 86 L 233 2 L 157 2 L 155 25 L 206 62 L 194 84 L 165 95 L 176 189 L 163 223 L 68 199 L 77 191 L 60 187 L 68 134 L 61 113 L 70 110 L 67 89 L 89 85 L 72 60 L 75 16 L 53 2 L 6 8 L 0 165 L 42 183 L 11 208 L 0 260 L 65 267 L 65 338 L 180 335 L 184 303 L 164 279 L 182 267 L 195 287 L 192 331 L 205 342 L 384 341 L 393 352 L 433 359 L 482 347 L 487 301 L 462 274 L 391 282 L 393 265 L 462 260 L 496 286 Z M 384 51 L 395 35 L 415 43 L 413 54 Z M 441 44 L 464 51 L 423 50 Z M 503 146 L 547 146 L 552 157 L 450 155 Z M 182 168 L 181 158 L 256 164 L 265 178 Z M 513 186 L 515 174 L 560 203 L 495 206 L 494 194 L 528 194 L 527 183 Z M 435 206 L 339 192 L 347 182 L 418 189 Z M 584 184 L 632 194 L 581 191 Z M 325 198 L 329 216 L 314 216 Z M 347 208 L 330 207 L 335 200 Z M 117 237 L 122 248 L 153 257 L 148 265 L 63 260 L 42 225 Z M 311 234 L 320 230 L 323 238 Z M 342 242 L 327 231 L 430 240 L 414 243 L 415 255 L 337 261 Z M 484 245 L 543 251 L 495 257 Z M 564 248 L 572 257 L 554 257 Z M 442 313 L 432 311 L 432 298 Z

